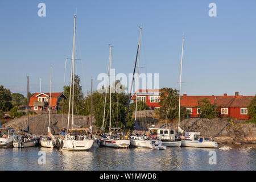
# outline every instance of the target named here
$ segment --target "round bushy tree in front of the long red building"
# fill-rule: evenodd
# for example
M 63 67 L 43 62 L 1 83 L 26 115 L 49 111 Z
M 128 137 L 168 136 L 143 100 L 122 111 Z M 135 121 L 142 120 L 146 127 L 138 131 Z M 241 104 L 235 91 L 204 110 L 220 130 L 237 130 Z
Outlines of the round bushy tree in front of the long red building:
M 201 118 L 208 118 L 213 119 L 218 117 L 218 109 L 216 105 L 210 104 L 210 100 L 207 98 L 203 98 L 200 101 L 198 101 L 198 105 L 200 107 L 200 117 Z

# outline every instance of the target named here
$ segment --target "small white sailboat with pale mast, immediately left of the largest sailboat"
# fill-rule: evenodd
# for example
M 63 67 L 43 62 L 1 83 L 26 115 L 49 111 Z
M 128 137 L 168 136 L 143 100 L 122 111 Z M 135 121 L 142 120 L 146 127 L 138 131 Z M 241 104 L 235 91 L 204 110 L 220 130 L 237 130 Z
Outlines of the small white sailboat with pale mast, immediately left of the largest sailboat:
M 49 125 L 51 122 L 51 100 L 52 100 L 52 67 L 51 67 L 51 81 L 50 81 L 50 96 L 49 96 Z M 56 144 L 56 138 L 51 134 L 50 127 L 47 127 L 48 129 L 48 137 L 42 137 L 40 138 L 40 144 L 42 147 L 48 147 L 53 148 Z

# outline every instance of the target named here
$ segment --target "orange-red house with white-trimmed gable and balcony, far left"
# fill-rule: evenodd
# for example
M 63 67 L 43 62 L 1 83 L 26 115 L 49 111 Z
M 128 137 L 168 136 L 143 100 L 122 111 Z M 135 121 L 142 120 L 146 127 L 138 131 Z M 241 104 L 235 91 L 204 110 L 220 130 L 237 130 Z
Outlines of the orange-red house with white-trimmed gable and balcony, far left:
M 33 111 L 49 110 L 50 93 L 34 93 L 30 98 L 30 108 Z M 59 102 L 67 99 L 63 92 L 51 93 L 51 109 L 58 110 Z

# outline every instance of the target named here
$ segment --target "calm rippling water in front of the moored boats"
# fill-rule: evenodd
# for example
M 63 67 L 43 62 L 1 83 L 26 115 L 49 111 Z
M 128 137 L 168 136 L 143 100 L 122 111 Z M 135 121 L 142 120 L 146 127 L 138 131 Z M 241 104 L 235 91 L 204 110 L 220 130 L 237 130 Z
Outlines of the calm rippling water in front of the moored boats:
M 222 146 L 221 146 L 222 147 Z M 46 164 L 38 164 L 38 152 Z M 209 164 L 209 151 L 217 164 Z M 90 148 L 65 151 L 52 148 L 0 148 L 0 170 L 256 170 L 255 146 L 210 149 L 178 147 L 167 150 Z

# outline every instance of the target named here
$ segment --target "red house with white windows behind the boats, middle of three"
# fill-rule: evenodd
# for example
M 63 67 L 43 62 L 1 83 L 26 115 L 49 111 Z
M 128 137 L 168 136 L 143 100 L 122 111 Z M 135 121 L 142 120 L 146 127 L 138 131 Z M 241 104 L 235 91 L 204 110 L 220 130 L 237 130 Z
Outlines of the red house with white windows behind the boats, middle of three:
M 133 94 L 133 97 L 131 97 L 131 100 L 136 102 L 136 95 L 137 92 Z M 160 93 L 159 89 L 146 89 L 138 90 L 138 101 L 146 102 L 147 106 L 150 107 L 150 109 L 160 109 L 160 105 L 158 102 L 160 101 Z

